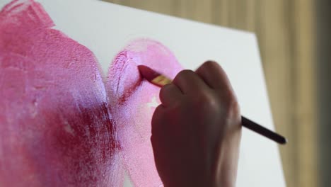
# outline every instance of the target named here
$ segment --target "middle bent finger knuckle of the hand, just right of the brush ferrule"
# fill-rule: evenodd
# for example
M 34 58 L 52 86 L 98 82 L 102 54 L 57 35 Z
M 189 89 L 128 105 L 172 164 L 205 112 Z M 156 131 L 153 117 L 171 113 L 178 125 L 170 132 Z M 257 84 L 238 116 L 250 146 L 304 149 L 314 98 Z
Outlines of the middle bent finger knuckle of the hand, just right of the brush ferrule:
M 194 94 L 197 91 L 208 89 L 204 81 L 192 70 L 182 70 L 173 79 L 173 84 L 178 86 L 182 94 Z

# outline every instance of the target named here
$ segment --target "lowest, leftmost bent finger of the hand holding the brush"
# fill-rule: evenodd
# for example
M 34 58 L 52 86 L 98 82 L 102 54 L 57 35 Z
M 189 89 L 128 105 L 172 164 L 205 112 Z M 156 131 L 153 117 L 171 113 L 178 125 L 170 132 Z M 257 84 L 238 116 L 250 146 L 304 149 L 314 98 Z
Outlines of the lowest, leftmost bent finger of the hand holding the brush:
M 160 100 L 163 106 L 170 106 L 175 101 L 180 101 L 182 91 L 175 84 L 165 84 L 160 91 Z

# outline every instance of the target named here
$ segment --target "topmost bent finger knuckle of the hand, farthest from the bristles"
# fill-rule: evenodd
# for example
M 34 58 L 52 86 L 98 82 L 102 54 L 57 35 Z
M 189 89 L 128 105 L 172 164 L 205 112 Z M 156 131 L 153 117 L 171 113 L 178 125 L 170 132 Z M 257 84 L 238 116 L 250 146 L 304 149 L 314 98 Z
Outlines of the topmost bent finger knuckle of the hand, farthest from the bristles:
M 229 88 L 232 90 L 226 72 L 224 72 L 221 66 L 216 62 L 204 62 L 204 64 L 202 64 L 202 66 L 200 66 L 195 72 L 199 74 L 211 89 Z

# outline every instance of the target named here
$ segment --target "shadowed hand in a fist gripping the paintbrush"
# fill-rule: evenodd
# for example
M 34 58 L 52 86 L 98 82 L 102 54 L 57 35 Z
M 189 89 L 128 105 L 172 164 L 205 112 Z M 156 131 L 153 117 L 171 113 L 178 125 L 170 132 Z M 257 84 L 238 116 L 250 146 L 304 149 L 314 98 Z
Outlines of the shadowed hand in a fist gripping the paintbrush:
M 240 110 L 219 64 L 183 70 L 160 99 L 151 143 L 164 186 L 236 186 Z

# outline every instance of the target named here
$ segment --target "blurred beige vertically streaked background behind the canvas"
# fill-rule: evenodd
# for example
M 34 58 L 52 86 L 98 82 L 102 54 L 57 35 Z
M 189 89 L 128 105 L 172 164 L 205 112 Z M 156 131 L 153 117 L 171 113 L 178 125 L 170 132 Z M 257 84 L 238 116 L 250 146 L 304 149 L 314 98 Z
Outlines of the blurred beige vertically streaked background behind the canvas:
M 274 123 L 277 131 L 289 139 L 288 145 L 279 147 L 287 186 L 321 186 L 316 111 L 316 1 L 105 1 L 256 33 Z

